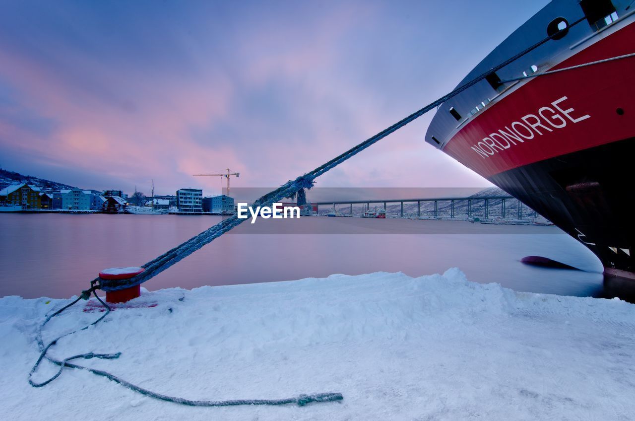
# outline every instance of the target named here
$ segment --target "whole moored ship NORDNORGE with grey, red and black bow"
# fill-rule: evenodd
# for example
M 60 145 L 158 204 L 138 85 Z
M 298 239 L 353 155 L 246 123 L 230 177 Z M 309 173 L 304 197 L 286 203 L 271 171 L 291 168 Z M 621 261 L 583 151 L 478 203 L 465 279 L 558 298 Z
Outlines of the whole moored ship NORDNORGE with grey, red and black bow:
M 458 86 L 551 39 L 447 100 L 425 135 L 631 279 L 634 13 L 632 0 L 551 1 Z

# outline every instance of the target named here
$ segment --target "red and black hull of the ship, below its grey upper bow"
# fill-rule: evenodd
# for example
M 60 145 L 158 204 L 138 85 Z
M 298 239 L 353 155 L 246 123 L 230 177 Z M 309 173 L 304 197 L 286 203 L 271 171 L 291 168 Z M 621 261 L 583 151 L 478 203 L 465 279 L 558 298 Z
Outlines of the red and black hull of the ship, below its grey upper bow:
M 574 50 L 575 51 L 575 50 Z M 552 69 L 635 52 L 635 24 Z M 443 151 L 635 278 L 635 57 L 537 76 L 486 106 Z

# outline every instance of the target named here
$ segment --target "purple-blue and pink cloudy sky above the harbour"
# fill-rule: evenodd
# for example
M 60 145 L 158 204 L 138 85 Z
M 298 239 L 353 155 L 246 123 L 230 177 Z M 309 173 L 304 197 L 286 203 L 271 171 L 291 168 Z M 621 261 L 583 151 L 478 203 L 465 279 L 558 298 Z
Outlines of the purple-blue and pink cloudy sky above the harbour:
M 548 2 L 0 0 L 0 167 L 157 194 L 276 187 L 441 97 Z M 474 187 L 429 113 L 319 187 Z

